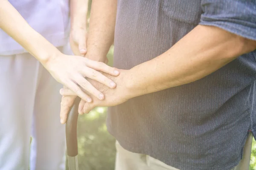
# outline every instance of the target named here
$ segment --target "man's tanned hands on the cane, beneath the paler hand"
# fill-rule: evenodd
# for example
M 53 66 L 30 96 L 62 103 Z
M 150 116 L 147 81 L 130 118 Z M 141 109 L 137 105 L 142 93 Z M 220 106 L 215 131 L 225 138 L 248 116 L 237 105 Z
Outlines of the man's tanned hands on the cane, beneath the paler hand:
M 119 105 L 128 99 L 131 98 L 130 92 L 128 88 L 126 88 L 126 73 L 127 70 L 119 70 L 120 74 L 117 77 L 104 74 L 106 77 L 112 79 L 112 81 L 116 82 L 116 88 L 111 89 L 107 86 L 96 82 L 93 79 L 88 79 L 88 81 L 99 91 L 101 91 L 105 95 L 104 100 L 99 100 L 96 97 L 92 96 L 93 102 L 89 103 L 84 100 L 81 100 L 79 103 L 79 114 L 89 113 L 93 108 L 97 106 L 115 106 Z M 73 91 L 68 88 L 62 88 L 60 90 L 60 94 L 63 96 L 61 99 L 61 123 L 65 123 L 67 121 L 67 114 L 70 110 L 70 107 L 73 105 L 74 100 L 76 99 L 76 95 Z

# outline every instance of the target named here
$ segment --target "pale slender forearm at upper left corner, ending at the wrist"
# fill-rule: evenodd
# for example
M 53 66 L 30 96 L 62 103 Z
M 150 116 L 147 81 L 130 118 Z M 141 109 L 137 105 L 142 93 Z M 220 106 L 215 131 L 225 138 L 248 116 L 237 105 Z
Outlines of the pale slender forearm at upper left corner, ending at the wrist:
M 54 45 L 29 26 L 8 0 L 1 0 L 0 28 L 42 64 L 46 63 L 50 57 L 60 53 Z

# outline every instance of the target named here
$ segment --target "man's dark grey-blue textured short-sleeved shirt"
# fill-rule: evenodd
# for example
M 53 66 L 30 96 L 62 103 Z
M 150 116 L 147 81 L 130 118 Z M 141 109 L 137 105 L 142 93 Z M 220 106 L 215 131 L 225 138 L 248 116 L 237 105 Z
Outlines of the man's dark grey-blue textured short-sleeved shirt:
M 256 40 L 256 1 L 118 0 L 114 66 L 153 59 L 198 24 Z M 256 134 L 255 85 L 253 51 L 198 81 L 109 108 L 108 130 L 125 149 L 180 170 L 230 170 L 248 131 Z

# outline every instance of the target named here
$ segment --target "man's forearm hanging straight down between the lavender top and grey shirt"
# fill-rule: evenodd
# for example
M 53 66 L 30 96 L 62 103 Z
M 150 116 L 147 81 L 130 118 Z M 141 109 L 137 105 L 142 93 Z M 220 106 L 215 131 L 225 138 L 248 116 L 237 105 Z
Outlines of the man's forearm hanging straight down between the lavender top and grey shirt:
M 87 40 L 87 56 L 104 62 L 113 44 L 117 0 L 93 0 Z

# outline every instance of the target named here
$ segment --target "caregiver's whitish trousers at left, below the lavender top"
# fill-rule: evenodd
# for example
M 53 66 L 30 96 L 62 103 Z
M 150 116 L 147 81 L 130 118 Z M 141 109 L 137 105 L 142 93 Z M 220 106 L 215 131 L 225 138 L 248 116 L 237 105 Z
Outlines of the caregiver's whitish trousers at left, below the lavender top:
M 0 170 L 65 169 L 61 87 L 30 54 L 0 56 Z

